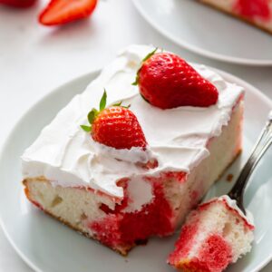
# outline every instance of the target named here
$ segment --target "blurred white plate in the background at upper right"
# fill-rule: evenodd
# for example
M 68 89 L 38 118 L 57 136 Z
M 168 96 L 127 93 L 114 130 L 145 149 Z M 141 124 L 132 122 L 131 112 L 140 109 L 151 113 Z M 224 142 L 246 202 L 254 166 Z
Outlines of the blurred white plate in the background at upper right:
M 272 65 L 272 35 L 194 0 L 133 0 L 161 34 L 194 53 L 228 63 Z

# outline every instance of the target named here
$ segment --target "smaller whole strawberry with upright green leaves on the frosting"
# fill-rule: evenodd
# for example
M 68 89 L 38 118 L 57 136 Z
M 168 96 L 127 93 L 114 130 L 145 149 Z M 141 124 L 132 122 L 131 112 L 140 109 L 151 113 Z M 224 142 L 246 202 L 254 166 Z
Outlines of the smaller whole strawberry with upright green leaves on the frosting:
M 106 106 L 107 94 L 103 93 L 100 111 L 92 109 L 88 114 L 91 126 L 82 125 L 84 131 L 90 131 L 92 139 L 104 145 L 121 150 L 132 147 L 145 149 L 147 141 L 136 116 L 121 103 L 109 108 Z

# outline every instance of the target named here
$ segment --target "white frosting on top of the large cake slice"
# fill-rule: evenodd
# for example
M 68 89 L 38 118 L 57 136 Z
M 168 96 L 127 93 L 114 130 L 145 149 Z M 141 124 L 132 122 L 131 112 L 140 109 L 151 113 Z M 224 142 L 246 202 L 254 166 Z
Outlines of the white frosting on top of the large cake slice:
M 86 186 L 114 197 L 122 197 L 116 185 L 121 178 L 139 179 L 161 171 L 189 172 L 209 156 L 206 143 L 219 136 L 227 125 L 242 88 L 225 82 L 219 74 L 203 65 L 194 68 L 219 90 L 219 102 L 209 108 L 180 107 L 160 110 L 145 102 L 138 86 L 132 86 L 141 60 L 153 50 L 151 46 L 131 45 L 106 66 L 86 90 L 76 95 L 54 120 L 44 128 L 22 156 L 24 178 L 44 176 L 64 187 Z M 116 151 L 102 146 L 81 128 L 87 113 L 98 107 L 103 89 L 108 104 L 122 101 L 131 104 L 149 143 L 148 151 L 133 148 Z M 141 163 L 150 158 L 158 168 L 145 170 Z

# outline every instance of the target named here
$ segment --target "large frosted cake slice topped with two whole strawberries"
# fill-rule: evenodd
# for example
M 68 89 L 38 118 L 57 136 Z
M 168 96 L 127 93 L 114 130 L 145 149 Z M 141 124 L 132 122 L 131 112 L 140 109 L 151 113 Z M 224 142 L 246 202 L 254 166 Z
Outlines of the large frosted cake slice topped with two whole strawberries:
M 169 236 L 241 151 L 243 93 L 203 65 L 131 45 L 24 151 L 25 194 L 123 255 Z

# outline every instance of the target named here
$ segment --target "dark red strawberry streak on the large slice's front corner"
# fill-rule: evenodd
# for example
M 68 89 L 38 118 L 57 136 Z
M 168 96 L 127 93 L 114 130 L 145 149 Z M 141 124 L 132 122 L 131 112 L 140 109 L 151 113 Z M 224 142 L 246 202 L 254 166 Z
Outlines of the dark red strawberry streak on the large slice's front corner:
M 92 222 L 90 228 L 100 241 L 110 247 L 115 245 L 139 244 L 151 236 L 167 236 L 174 231 L 172 224 L 173 210 L 165 198 L 162 180 L 178 178 L 184 181 L 184 173 L 166 173 L 160 179 L 151 178 L 153 199 L 141 210 L 124 212 L 131 199 L 128 196 L 127 181 L 122 182 L 124 199 L 114 210 L 102 205 L 101 209 L 108 216 L 100 221 Z

